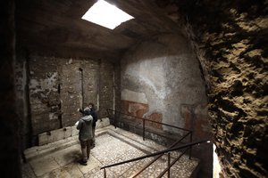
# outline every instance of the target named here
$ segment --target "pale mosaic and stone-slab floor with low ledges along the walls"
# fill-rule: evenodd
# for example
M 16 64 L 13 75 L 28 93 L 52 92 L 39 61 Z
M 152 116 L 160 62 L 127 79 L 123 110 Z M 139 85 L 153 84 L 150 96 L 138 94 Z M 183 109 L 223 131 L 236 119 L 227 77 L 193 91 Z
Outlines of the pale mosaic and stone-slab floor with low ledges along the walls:
M 23 178 L 94 178 L 104 177 L 104 170 L 100 167 L 111 165 L 116 162 L 124 161 L 130 158 L 137 158 L 153 153 L 157 150 L 164 150 L 162 145 L 146 140 L 137 134 L 132 134 L 120 128 L 114 128 L 109 125 L 105 128 L 96 130 L 96 147 L 90 152 L 88 166 L 81 166 L 80 160 L 80 144 L 78 138 L 70 138 L 66 140 L 70 142 L 68 147 L 62 147 L 63 141 L 44 145 L 44 149 L 26 150 L 26 158 L 28 162 L 22 165 Z M 66 142 L 64 144 L 66 145 Z M 39 151 L 35 153 L 35 151 Z M 40 151 L 41 150 L 41 151 Z M 47 151 L 46 153 L 46 150 Z M 40 154 L 42 152 L 42 154 Z M 178 152 L 172 153 L 171 158 L 175 158 Z M 31 156 L 30 156 L 31 155 Z M 35 156 L 32 156 L 35 155 Z M 138 160 L 121 166 L 113 166 L 106 168 L 107 178 L 131 177 L 134 173 L 145 166 L 153 158 Z M 155 161 L 149 166 L 145 172 L 137 177 L 157 177 L 166 167 L 167 155 L 163 155 L 161 159 Z M 197 167 L 197 159 L 189 160 L 187 156 L 183 156 L 172 166 L 171 177 L 190 177 L 190 174 Z M 167 177 L 164 174 L 163 177 Z

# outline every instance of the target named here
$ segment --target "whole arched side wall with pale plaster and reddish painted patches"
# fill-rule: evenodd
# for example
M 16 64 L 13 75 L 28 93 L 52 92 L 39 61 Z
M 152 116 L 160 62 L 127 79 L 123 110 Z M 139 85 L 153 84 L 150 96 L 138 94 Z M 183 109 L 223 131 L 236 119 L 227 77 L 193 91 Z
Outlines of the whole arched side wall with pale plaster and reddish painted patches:
M 155 36 L 125 54 L 121 60 L 121 111 L 192 130 L 193 140 L 211 138 L 205 81 L 197 56 L 184 36 Z M 129 119 L 141 124 L 137 118 Z M 186 134 L 165 125 L 146 125 L 166 133 Z M 163 142 L 163 138 L 159 141 Z M 201 171 L 211 177 L 212 145 L 196 146 L 192 153 L 202 161 Z

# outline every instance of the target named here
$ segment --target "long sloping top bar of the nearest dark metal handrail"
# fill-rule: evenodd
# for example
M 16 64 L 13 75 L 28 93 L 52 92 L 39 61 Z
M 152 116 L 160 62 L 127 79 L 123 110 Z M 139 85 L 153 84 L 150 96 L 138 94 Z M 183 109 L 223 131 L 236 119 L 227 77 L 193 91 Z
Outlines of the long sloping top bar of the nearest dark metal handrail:
M 126 164 L 126 163 L 138 161 L 140 159 L 155 157 L 155 156 L 158 156 L 158 155 L 163 155 L 165 153 L 168 153 L 168 152 L 171 152 L 171 151 L 174 151 L 174 150 L 185 149 L 185 148 L 188 148 L 188 147 L 191 147 L 191 146 L 203 143 L 203 142 L 210 142 L 210 140 L 201 140 L 201 141 L 197 141 L 197 142 L 186 143 L 186 144 L 180 145 L 179 147 L 175 147 L 175 148 L 172 148 L 172 149 L 161 150 L 161 151 L 157 151 L 155 153 L 151 153 L 151 154 L 148 154 L 148 155 L 145 155 L 145 156 L 142 156 L 142 157 L 132 158 L 132 159 L 129 159 L 129 160 L 126 160 L 126 161 L 121 161 L 119 163 L 114 163 L 114 164 L 108 165 L 108 166 L 102 166 L 100 169 L 105 169 L 105 168 L 112 167 L 112 166 L 119 166 L 119 165 L 123 165 L 123 164 Z

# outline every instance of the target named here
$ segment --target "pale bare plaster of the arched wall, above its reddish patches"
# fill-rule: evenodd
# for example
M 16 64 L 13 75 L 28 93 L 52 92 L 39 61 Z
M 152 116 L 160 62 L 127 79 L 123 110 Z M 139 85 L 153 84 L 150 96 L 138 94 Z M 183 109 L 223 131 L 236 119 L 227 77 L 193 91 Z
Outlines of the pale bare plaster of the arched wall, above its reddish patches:
M 180 127 L 185 123 L 181 104 L 206 103 L 197 57 L 180 35 L 157 36 L 154 42 L 141 43 L 126 53 L 121 60 L 121 91 L 128 91 L 122 93 L 122 100 L 135 98 L 131 93 L 145 95 L 149 110 L 144 117 L 158 112 L 163 123 Z

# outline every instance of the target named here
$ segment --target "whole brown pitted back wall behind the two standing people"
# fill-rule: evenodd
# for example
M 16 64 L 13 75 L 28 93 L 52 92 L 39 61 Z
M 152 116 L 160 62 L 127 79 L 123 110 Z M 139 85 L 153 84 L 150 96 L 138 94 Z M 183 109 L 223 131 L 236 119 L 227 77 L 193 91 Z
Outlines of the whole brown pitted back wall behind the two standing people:
M 115 107 L 113 85 L 119 82 L 111 62 L 25 53 L 18 59 L 17 108 L 23 115 L 25 147 L 38 144 L 38 134 L 74 125 L 81 116 L 77 109 L 89 102 L 99 118 Z

